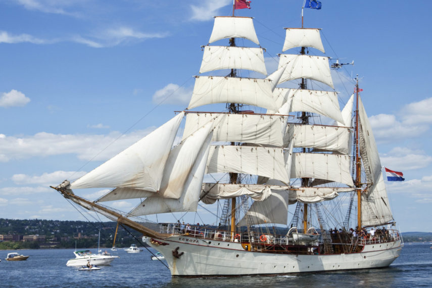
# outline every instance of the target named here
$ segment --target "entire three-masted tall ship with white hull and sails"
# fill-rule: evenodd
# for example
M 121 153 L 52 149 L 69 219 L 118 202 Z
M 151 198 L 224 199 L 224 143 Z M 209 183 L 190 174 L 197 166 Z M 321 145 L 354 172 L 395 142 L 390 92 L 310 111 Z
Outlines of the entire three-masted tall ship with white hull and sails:
M 53 188 L 141 232 L 173 276 L 389 266 L 403 242 L 393 228 L 358 77 L 341 111 L 329 58 L 319 56 L 320 29 L 285 28 L 285 35 L 282 53 L 298 53 L 280 54 L 268 74 L 253 18 L 215 17 L 187 109 L 86 175 Z M 98 187 L 112 189 L 95 201 L 74 193 Z M 124 200 L 137 206 L 110 208 Z M 145 223 L 148 215 L 195 213 L 198 206 L 216 217 L 212 225 L 174 217 Z

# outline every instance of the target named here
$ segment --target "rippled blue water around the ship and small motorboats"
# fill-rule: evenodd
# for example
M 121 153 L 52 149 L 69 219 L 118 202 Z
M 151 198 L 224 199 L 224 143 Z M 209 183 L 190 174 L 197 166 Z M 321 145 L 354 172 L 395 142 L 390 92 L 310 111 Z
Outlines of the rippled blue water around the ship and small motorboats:
M 120 256 L 101 270 L 78 271 L 67 267 L 73 249 L 21 250 L 27 261 L 4 260 L 11 251 L 0 251 L 2 287 L 431 287 L 432 245 L 405 244 L 401 256 L 388 268 L 340 272 L 302 273 L 289 276 L 172 278 L 168 268 L 144 251 Z M 92 249 L 95 253 L 96 250 Z M 13 252 L 13 251 L 12 251 Z M 111 252 L 109 250 L 109 252 Z

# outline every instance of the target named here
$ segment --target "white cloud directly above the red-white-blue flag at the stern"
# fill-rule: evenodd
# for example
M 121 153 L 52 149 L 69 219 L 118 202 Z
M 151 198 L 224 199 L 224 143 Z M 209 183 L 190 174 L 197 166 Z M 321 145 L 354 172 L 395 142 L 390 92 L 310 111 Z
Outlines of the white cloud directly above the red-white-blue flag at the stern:
M 402 147 L 395 147 L 389 153 L 382 154 L 380 158 L 382 165 L 399 169 L 398 171 L 420 169 L 432 163 L 432 157 L 424 151 Z

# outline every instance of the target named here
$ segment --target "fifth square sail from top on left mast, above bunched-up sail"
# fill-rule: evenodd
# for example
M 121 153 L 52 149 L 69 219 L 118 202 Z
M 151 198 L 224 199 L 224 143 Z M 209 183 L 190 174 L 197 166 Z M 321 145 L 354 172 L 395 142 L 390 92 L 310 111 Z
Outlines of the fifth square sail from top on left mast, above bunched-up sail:
M 290 183 L 283 150 L 253 146 L 212 146 L 206 173 L 245 173 Z

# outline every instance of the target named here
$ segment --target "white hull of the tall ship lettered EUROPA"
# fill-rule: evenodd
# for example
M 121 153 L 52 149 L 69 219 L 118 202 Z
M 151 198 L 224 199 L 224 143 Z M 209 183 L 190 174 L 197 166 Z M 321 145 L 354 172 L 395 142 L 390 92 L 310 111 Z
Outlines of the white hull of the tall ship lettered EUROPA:
M 188 236 L 172 236 L 157 241 L 162 245 L 147 243 L 165 256 L 173 276 L 271 275 L 379 268 L 389 266 L 402 249 L 398 240 L 365 245 L 360 253 L 287 255 L 246 251 L 240 243 Z M 179 254 L 183 252 L 179 258 L 173 256 L 177 247 Z

